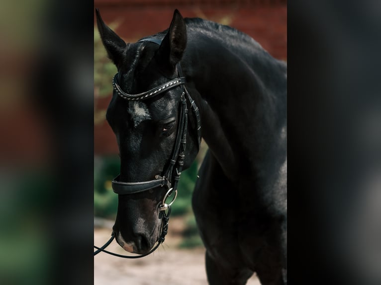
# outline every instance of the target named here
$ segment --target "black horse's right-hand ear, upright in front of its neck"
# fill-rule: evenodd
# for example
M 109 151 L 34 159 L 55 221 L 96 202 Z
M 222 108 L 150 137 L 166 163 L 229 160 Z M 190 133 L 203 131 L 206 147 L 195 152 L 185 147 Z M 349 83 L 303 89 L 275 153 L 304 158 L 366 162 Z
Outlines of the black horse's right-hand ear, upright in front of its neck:
M 163 63 L 174 68 L 183 58 L 184 50 L 187 46 L 187 28 L 183 16 L 176 9 L 173 13 L 171 25 L 164 37 L 159 50 L 158 57 Z

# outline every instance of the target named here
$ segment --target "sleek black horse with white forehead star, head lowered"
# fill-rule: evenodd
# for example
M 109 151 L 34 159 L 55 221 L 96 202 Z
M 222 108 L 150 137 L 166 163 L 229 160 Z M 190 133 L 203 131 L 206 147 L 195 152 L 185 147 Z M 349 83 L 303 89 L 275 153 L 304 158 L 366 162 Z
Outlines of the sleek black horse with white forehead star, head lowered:
M 184 104 L 193 111 L 198 106 L 209 150 L 192 206 L 208 282 L 245 284 L 256 272 L 263 285 L 286 284 L 286 64 L 246 34 L 183 19 L 178 10 L 168 30 L 137 43 L 126 44 L 98 13 L 97 24 L 118 70 L 106 114 L 120 152 L 116 183 L 133 186 L 130 195 L 119 193 L 117 242 L 146 254 L 158 240 L 168 188 L 148 186 L 164 181 L 175 164 L 179 132 L 185 132 L 183 160 L 176 165 L 191 165 L 198 152 L 197 116 L 190 115 L 188 124 L 180 118 L 187 113 Z M 193 104 L 184 97 L 188 92 Z

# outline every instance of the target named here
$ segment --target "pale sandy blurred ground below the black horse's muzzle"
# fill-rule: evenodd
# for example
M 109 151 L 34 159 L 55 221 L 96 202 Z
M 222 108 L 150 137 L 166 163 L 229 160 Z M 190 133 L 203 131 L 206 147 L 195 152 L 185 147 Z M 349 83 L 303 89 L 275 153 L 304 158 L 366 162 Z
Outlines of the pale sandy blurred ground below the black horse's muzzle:
M 94 242 L 98 246 L 111 234 L 112 222 L 103 225 L 94 230 Z M 207 285 L 205 249 L 177 246 L 183 228 L 183 219 L 172 217 L 164 244 L 144 258 L 127 260 L 99 253 L 94 257 L 94 285 Z M 115 241 L 107 249 L 126 254 Z M 247 284 L 260 285 L 255 275 Z

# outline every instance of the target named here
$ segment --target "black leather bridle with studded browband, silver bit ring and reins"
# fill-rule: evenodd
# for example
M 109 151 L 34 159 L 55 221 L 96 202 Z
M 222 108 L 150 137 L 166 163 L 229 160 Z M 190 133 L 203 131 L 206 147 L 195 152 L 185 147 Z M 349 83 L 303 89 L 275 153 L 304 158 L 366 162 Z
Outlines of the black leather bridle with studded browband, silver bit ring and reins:
M 144 42 L 144 41 L 152 42 L 158 45 L 160 45 L 162 42 L 161 40 L 154 39 L 154 38 L 142 39 L 139 42 Z M 189 100 L 191 104 L 191 110 L 195 118 L 198 149 L 201 143 L 200 114 L 194 100 L 191 98 L 191 95 L 189 94 L 185 86 L 186 80 L 185 80 L 185 77 L 183 76 L 183 72 L 182 72 L 180 64 L 177 64 L 176 68 L 178 72 L 177 78 L 172 79 L 171 81 L 168 81 L 165 84 L 162 84 L 160 86 L 157 86 L 151 90 L 148 90 L 140 94 L 132 95 L 132 94 L 125 93 L 118 84 L 118 81 L 117 81 L 118 73 L 116 73 L 112 79 L 112 86 L 114 91 L 118 94 L 118 96 L 126 100 L 131 100 L 131 101 L 145 100 L 148 98 L 152 98 L 163 92 L 166 92 L 177 86 L 181 87 L 182 95 L 180 99 L 180 112 L 179 112 L 179 120 L 178 120 L 179 124 L 177 129 L 176 141 L 172 150 L 171 159 L 169 160 L 169 165 L 167 169 L 163 172 L 164 174 L 162 176 L 157 175 L 155 177 L 156 178 L 155 180 L 144 181 L 144 182 L 123 182 L 123 181 L 120 181 L 120 174 L 119 174 L 112 181 L 112 190 L 114 191 L 114 193 L 119 195 L 130 195 L 130 194 L 141 193 L 141 192 L 154 189 L 157 187 L 166 188 L 167 192 L 165 196 L 163 197 L 163 200 L 159 206 L 159 211 L 160 213 L 162 213 L 162 225 L 161 225 L 160 235 L 157 239 L 157 244 L 148 253 L 142 254 L 142 255 L 127 256 L 127 255 L 116 254 L 116 253 L 105 250 L 105 248 L 115 238 L 114 232 L 112 232 L 111 238 L 102 247 L 94 246 L 94 248 L 96 249 L 96 251 L 94 252 L 94 255 L 102 251 L 102 252 L 105 252 L 117 257 L 122 257 L 122 258 L 141 258 L 154 252 L 159 247 L 159 245 L 163 243 L 165 240 L 165 236 L 168 233 L 168 224 L 169 224 L 168 221 L 169 221 L 169 215 L 171 214 L 171 205 L 173 204 L 173 202 L 175 201 L 177 197 L 177 186 L 180 180 L 181 172 L 183 170 L 184 159 L 185 159 L 185 147 L 187 143 L 187 128 L 188 128 L 187 99 Z M 172 201 L 169 204 L 167 204 L 166 200 L 169 196 L 172 195 L 172 193 L 175 193 L 175 196 L 172 198 Z

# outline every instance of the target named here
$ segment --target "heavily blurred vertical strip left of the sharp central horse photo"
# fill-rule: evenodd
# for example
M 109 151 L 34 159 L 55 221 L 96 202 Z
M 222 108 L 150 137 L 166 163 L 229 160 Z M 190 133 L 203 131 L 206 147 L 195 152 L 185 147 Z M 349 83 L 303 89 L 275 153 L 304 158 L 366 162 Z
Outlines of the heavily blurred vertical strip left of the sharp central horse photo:
M 93 280 L 93 13 L 1 2 L 0 284 Z

